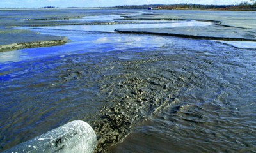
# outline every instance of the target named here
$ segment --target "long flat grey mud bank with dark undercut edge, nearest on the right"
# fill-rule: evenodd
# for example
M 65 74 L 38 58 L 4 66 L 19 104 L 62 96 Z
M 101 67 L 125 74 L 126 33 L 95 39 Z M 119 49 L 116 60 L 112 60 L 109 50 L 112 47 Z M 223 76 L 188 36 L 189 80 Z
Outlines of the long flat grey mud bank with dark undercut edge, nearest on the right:
M 256 33 L 254 31 L 220 25 L 205 27 L 116 29 L 115 31 L 118 33 L 157 34 L 207 40 L 256 41 Z

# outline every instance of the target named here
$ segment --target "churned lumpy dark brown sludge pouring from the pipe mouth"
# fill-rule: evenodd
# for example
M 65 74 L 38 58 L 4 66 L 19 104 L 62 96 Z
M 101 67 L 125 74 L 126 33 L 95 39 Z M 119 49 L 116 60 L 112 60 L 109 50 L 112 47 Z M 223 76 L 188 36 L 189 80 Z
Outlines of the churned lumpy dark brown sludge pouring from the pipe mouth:
M 166 86 L 157 80 L 135 76 L 106 85 L 103 91 L 108 91 L 108 99 L 114 105 L 100 112 L 95 127 L 98 136 L 95 152 L 106 152 L 131 133 L 132 125 L 174 100 L 169 92 L 164 92 Z

